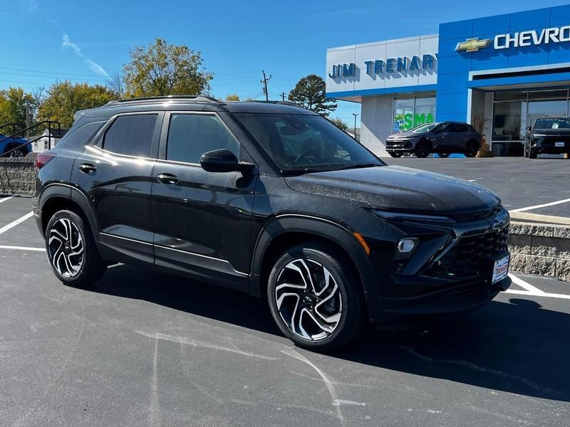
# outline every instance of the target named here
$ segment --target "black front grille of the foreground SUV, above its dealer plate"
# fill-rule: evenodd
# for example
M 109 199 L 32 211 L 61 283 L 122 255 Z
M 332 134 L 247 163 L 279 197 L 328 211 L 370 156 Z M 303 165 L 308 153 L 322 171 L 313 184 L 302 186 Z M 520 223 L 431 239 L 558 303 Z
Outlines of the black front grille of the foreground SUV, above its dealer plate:
M 491 231 L 457 241 L 440 260 L 427 268 L 427 275 L 438 278 L 462 278 L 482 273 L 482 259 L 507 250 L 509 228 Z

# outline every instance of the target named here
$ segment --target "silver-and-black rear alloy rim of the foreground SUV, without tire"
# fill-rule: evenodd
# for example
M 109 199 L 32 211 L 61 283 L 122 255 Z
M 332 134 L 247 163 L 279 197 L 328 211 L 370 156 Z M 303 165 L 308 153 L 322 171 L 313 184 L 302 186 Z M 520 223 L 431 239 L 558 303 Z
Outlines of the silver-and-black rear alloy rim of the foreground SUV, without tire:
M 73 278 L 85 260 L 83 239 L 76 224 L 59 218 L 48 231 L 48 252 L 53 268 L 64 278 Z

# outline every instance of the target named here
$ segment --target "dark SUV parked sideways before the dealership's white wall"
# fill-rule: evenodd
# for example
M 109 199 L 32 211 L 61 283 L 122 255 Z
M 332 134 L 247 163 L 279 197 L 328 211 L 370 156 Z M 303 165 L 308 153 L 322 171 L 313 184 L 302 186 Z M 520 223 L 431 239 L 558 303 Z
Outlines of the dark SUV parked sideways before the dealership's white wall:
M 475 157 L 481 148 L 481 135 L 471 125 L 461 122 L 440 122 L 420 125 L 386 139 L 386 151 L 392 157 L 404 153 L 427 157 L 437 153 L 449 157 L 452 153 Z

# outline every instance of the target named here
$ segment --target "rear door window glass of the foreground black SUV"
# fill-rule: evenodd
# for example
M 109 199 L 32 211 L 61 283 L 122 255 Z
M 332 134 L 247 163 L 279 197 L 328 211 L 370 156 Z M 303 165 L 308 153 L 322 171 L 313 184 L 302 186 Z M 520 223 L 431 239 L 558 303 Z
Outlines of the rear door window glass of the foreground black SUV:
M 156 114 L 117 117 L 105 132 L 103 149 L 117 154 L 150 157 L 157 117 Z

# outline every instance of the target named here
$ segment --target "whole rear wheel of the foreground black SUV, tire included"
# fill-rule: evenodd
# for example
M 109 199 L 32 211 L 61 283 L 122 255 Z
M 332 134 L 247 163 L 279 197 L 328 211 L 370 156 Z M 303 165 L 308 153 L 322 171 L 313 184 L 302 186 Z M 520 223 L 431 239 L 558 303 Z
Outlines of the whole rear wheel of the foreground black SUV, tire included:
M 83 253 L 74 255 L 80 242 Z M 95 283 L 107 270 L 107 263 L 99 256 L 93 234 L 83 218 L 72 211 L 58 211 L 50 218 L 46 227 L 46 252 L 56 277 L 76 288 L 86 288 Z

